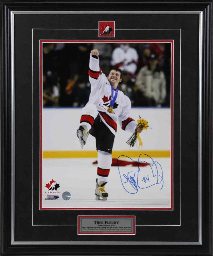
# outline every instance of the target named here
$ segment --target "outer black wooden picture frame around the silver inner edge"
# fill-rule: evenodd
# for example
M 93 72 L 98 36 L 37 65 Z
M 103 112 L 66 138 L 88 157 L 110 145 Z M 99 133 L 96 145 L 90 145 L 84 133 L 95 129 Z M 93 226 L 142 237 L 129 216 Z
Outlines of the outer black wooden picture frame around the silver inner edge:
M 91 8 L 91 2 L 93 7 Z M 0 1 L 1 3 L 1 255 L 212 256 L 213 1 Z M 112 6 L 109 6 L 111 3 Z M 203 11 L 202 245 L 11 245 L 11 10 Z

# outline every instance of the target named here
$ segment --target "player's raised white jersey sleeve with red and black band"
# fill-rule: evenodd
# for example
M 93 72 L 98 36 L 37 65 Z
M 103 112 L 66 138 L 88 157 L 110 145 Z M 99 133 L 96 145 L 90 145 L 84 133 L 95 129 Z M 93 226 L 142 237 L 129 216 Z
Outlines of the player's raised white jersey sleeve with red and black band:
M 95 88 L 102 85 L 103 80 L 106 78 L 105 74 L 102 73 L 101 67 L 99 66 L 99 57 L 90 54 L 90 63 L 89 63 L 89 81 L 91 84 L 91 92 Z

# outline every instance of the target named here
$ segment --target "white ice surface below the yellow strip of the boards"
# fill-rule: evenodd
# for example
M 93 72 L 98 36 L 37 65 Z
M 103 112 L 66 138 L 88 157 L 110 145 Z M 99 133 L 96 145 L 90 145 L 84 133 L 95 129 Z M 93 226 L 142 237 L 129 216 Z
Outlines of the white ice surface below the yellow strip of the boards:
M 94 158 L 43 159 L 42 207 L 43 208 L 170 208 L 171 167 L 170 158 L 140 159 L 150 165 L 138 167 L 112 166 L 105 186 L 106 202 L 96 201 L 95 185 L 97 164 Z M 129 160 L 129 159 L 123 159 Z M 137 161 L 138 159 L 133 159 Z M 162 169 L 161 169 L 162 168 Z M 54 180 L 57 191 L 46 188 Z M 62 198 L 63 192 L 71 193 L 70 200 Z M 48 195 L 58 195 L 56 200 L 45 200 Z

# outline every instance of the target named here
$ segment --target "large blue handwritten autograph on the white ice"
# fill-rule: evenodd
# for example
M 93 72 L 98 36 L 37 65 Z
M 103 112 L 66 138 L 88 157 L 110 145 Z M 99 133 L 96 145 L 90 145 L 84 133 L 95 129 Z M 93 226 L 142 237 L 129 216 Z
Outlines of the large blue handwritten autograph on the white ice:
M 140 156 L 147 156 L 149 160 L 152 161 L 151 164 L 147 163 L 146 161 L 140 161 Z M 117 162 L 120 157 L 127 157 L 131 159 L 128 156 L 121 155 L 117 158 Z M 134 162 L 134 160 L 132 161 Z M 147 171 L 146 169 L 146 173 L 140 170 L 139 163 L 141 162 L 144 162 L 149 166 L 149 171 Z M 161 184 L 160 190 L 163 188 L 163 170 L 161 165 L 157 161 L 154 161 L 147 154 L 142 153 L 139 155 L 138 164 L 135 163 L 135 166 L 137 167 L 136 171 L 123 173 L 124 169 L 126 168 L 122 168 L 122 174 L 121 174 L 121 170 L 119 169 L 119 166 L 117 164 L 122 186 L 127 193 L 136 194 L 138 192 L 138 189 L 149 188 L 156 184 Z

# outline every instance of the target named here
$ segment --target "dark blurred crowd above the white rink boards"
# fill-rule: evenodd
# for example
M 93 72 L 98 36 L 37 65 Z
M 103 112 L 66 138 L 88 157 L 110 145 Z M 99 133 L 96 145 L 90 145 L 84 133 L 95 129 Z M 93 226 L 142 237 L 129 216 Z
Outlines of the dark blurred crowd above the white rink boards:
M 100 66 L 106 76 L 112 67 L 122 70 L 118 89 L 130 98 L 132 106 L 170 106 L 170 44 L 43 43 L 44 107 L 87 104 L 92 49 L 99 50 Z

